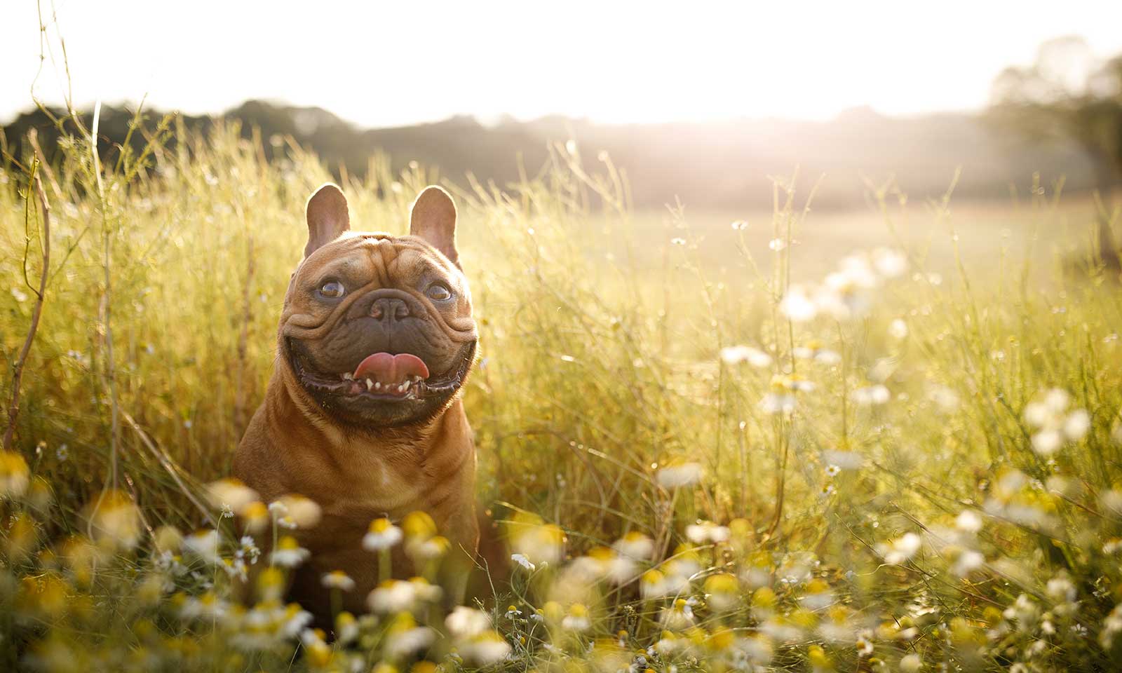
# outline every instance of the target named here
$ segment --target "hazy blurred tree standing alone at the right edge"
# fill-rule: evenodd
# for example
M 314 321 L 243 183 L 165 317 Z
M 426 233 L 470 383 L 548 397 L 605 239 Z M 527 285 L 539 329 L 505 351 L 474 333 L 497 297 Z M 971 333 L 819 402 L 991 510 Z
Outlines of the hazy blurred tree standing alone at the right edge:
M 1077 142 L 1095 170 L 1104 200 L 1122 179 L 1122 54 L 1103 61 L 1082 37 L 1040 45 L 1036 62 L 1008 67 L 994 80 L 991 114 L 1034 138 Z M 1098 218 L 1103 262 L 1118 269 L 1119 248 L 1111 218 Z

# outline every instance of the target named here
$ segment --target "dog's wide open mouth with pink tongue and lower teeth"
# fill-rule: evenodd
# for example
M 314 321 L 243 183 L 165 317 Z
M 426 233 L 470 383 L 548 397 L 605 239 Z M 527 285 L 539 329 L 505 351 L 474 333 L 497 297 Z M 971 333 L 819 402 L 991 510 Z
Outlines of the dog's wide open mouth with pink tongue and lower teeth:
M 475 357 L 475 342 L 465 344 L 457 365 L 432 376 L 424 361 L 412 353 L 371 353 L 352 371 L 316 371 L 301 349 L 288 340 L 288 353 L 300 382 L 313 393 L 348 399 L 399 402 L 425 399 L 454 391 L 467 378 Z

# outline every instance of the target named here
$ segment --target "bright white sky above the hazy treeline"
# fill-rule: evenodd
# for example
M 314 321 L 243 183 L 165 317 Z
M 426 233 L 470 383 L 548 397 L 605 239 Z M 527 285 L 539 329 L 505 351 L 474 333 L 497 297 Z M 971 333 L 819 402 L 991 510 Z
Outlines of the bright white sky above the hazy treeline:
M 50 24 L 50 0 L 42 0 Z M 30 104 L 36 0 L 6 0 L 0 120 Z M 218 112 L 249 98 L 360 126 L 560 113 L 644 122 L 828 119 L 985 104 L 1002 67 L 1068 34 L 1122 52 L 1119 0 L 544 3 L 54 0 L 80 105 Z M 55 37 L 52 25 L 48 35 Z M 62 53 L 36 87 L 62 100 Z

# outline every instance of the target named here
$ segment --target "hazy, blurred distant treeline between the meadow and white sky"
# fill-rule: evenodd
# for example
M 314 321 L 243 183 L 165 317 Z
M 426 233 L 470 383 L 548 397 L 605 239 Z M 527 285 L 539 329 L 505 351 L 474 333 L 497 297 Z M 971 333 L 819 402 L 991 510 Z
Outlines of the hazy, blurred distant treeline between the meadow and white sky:
M 61 110 L 53 111 L 63 117 Z M 146 112 L 146 128 L 162 112 Z M 84 113 L 86 127 L 91 113 Z M 132 112 L 103 107 L 99 123 L 105 153 L 125 142 Z M 481 182 L 505 185 L 533 175 L 549 148 L 572 139 L 592 167 L 601 151 L 623 168 L 638 208 L 659 208 L 675 199 L 692 208 L 770 206 L 772 176 L 798 169 L 803 193 L 821 178 L 819 208 L 857 204 L 868 184 L 895 179 L 912 197 L 941 195 L 957 169 L 956 194 L 1004 199 L 1021 193 L 1039 172 L 1045 184 L 1060 176 L 1067 191 L 1094 186 L 1094 169 L 1080 148 L 1063 139 L 1039 140 L 1006 131 L 982 116 L 941 113 L 889 118 L 856 109 L 827 122 L 736 120 L 716 123 L 597 125 L 543 118 L 503 120 L 485 126 L 470 117 L 385 129 L 359 129 L 319 108 L 247 101 L 215 117 L 182 116 L 182 123 L 205 132 L 218 120 L 238 122 L 241 133 L 258 139 L 269 158 L 285 151 L 279 140 L 295 142 L 322 157 L 335 173 L 364 175 L 374 155 L 388 155 L 394 169 L 416 160 L 439 167 L 441 176 L 463 184 L 468 173 Z M 7 151 L 18 155 L 28 129 L 38 129 L 44 151 L 57 151 L 58 130 L 47 114 L 34 110 L 3 127 Z M 67 122 L 64 128 L 72 129 Z M 174 139 L 173 139 L 174 141 Z M 144 135 L 130 142 L 139 148 Z

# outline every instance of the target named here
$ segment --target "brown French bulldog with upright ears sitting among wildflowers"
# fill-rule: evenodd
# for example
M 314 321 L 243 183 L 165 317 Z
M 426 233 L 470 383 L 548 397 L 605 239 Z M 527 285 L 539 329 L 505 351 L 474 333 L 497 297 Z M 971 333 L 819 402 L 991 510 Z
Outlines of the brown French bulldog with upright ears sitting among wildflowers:
M 322 508 L 318 526 L 297 532 L 312 555 L 292 589 L 316 615 L 329 614 L 321 577 L 333 570 L 357 584 L 343 607 L 365 611 L 378 566 L 362 536 L 373 519 L 413 510 L 429 513 L 451 542 L 450 557 L 459 554 L 452 581 L 462 592 L 479 525 L 476 453 L 458 393 L 477 332 L 456 205 L 431 186 L 413 203 L 410 236 L 351 232 L 347 199 L 327 184 L 306 215 L 273 378 L 233 472 L 266 501 L 301 494 Z M 393 569 L 413 572 L 399 553 Z

